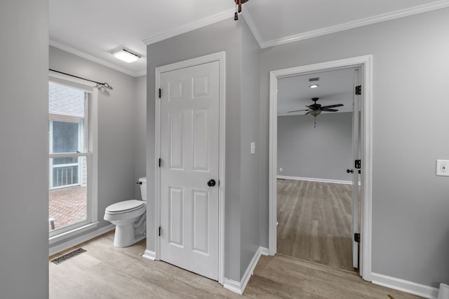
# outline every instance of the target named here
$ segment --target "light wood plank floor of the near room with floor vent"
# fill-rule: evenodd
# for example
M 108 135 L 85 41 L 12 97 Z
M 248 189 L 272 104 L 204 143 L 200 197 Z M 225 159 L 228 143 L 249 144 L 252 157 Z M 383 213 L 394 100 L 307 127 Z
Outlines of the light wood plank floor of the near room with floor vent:
M 375 286 L 351 272 L 282 255 L 262 256 L 245 292 L 238 295 L 217 281 L 142 258 L 145 240 L 116 248 L 113 239 L 114 232 L 109 232 L 74 247 L 87 250 L 79 256 L 59 265 L 49 261 L 50 298 L 420 298 Z

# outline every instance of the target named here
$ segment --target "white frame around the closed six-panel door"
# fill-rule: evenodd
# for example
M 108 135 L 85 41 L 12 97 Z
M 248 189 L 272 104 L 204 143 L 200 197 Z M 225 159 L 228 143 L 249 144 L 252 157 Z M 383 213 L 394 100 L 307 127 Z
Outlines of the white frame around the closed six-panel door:
M 193 58 L 191 60 L 185 60 L 182 62 L 175 62 L 173 64 L 167 64 L 162 67 L 156 67 L 156 83 L 155 83 L 155 161 L 154 165 L 159 164 L 159 157 L 161 156 L 161 99 L 159 99 L 159 88 L 161 87 L 161 74 L 167 71 L 174 71 L 176 69 L 184 69 L 186 67 L 194 67 L 199 64 L 206 64 L 208 62 L 219 62 L 220 64 L 220 91 L 219 91 L 219 128 L 220 128 L 220 153 L 219 157 L 219 173 L 218 173 L 218 282 L 223 284 L 224 276 L 224 252 L 225 252 L 225 66 L 226 66 L 226 53 L 219 52 L 210 55 Z M 154 188 L 154 209 L 156 216 L 155 230 L 155 259 L 161 259 L 161 239 L 159 237 L 159 226 L 161 225 L 161 196 L 160 196 L 160 184 L 161 184 L 161 169 L 155 167 L 155 186 Z

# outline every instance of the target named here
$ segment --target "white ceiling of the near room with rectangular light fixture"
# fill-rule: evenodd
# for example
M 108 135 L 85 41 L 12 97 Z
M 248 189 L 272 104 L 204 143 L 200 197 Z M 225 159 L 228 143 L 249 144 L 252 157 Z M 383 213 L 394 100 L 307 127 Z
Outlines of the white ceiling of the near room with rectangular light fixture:
M 250 0 L 243 17 L 266 48 L 447 6 L 449 0 Z M 234 18 L 234 10 L 233 0 L 49 0 L 49 34 L 52 46 L 141 76 L 145 43 Z M 142 59 L 116 60 L 111 51 L 119 46 Z

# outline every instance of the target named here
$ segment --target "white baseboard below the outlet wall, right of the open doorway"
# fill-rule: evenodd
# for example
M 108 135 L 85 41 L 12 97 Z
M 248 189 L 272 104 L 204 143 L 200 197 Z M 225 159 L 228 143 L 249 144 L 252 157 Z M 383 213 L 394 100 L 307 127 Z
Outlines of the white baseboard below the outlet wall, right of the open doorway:
M 436 299 L 438 297 L 438 288 L 416 284 L 412 281 L 389 277 L 382 274 L 371 273 L 371 282 L 379 286 L 386 286 L 398 291 L 403 291 L 413 295 L 419 295 L 424 298 Z

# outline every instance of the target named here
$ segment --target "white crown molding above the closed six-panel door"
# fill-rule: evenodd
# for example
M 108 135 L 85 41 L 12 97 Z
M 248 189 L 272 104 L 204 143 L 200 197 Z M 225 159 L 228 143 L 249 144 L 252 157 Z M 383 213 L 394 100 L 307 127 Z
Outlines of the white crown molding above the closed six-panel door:
M 158 41 L 163 41 L 164 39 L 170 39 L 170 37 L 177 36 L 186 32 L 191 32 L 192 30 L 199 29 L 201 27 L 206 27 L 216 22 L 220 22 L 222 20 L 226 20 L 228 18 L 234 18 L 234 10 L 224 11 L 222 13 L 217 13 L 216 15 L 211 15 L 208 18 L 203 18 L 199 21 L 191 22 L 186 25 L 182 25 L 180 27 L 176 27 L 170 29 L 162 34 L 158 34 L 156 36 L 149 37 L 148 39 L 144 39 L 143 43 L 145 45 L 151 45 L 152 43 L 157 43 Z

